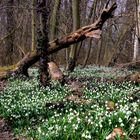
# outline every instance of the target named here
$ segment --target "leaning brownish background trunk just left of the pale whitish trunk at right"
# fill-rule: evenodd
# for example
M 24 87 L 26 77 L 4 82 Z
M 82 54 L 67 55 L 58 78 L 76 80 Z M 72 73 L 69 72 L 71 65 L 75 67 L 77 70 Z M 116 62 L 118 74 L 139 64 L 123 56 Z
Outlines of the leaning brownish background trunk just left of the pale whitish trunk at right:
M 129 13 L 130 9 L 132 11 L 134 10 L 133 4 L 134 4 L 134 1 L 132 1 L 132 0 L 126 1 L 126 3 L 125 3 L 125 12 L 126 13 Z M 131 31 L 134 27 L 134 12 L 132 13 L 131 16 L 124 17 L 122 20 L 123 20 L 123 22 L 125 22 L 127 24 L 121 25 L 121 27 L 119 29 L 120 32 L 118 34 L 118 38 L 113 45 L 113 49 L 111 49 L 110 55 L 108 55 L 109 59 L 108 59 L 108 62 L 106 63 L 106 66 L 114 66 L 115 63 L 117 63 L 117 61 L 119 60 L 119 57 L 121 56 L 121 54 L 123 54 L 123 50 L 125 49 L 124 44 L 127 41 L 126 38 L 132 36 Z

